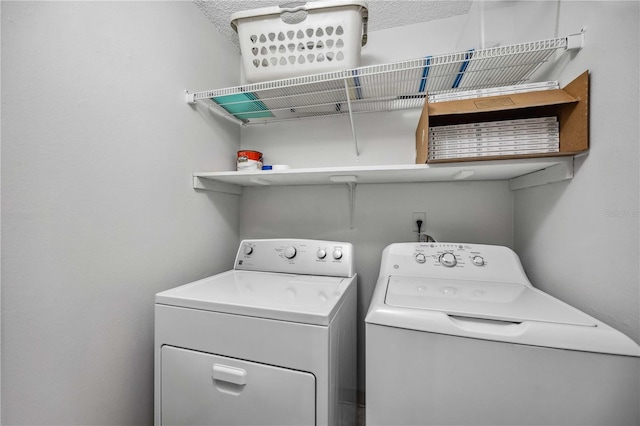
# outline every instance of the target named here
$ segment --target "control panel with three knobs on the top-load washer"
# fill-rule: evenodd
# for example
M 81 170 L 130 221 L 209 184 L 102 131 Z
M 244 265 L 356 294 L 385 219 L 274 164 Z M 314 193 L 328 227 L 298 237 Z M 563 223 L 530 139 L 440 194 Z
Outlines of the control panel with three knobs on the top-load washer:
M 526 277 L 508 247 L 465 243 L 398 243 L 382 256 L 380 275 L 519 282 Z

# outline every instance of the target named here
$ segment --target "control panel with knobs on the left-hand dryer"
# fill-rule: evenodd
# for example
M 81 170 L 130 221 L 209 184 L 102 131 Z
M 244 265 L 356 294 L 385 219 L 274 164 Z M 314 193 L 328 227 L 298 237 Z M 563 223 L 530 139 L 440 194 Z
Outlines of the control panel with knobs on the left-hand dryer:
M 355 274 L 353 245 L 303 239 L 244 240 L 234 269 L 352 277 Z

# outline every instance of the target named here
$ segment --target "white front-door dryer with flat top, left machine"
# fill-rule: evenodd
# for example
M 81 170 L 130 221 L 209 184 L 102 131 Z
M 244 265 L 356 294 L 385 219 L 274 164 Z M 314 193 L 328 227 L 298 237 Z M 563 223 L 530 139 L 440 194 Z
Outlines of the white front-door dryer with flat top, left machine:
M 234 269 L 158 293 L 156 425 L 355 422 L 349 243 L 244 240 Z

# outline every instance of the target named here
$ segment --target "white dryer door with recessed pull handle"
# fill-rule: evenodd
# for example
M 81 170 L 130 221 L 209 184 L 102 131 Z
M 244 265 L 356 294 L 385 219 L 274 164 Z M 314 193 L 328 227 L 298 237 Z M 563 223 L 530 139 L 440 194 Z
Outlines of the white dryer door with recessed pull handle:
M 314 425 L 312 374 L 162 347 L 163 425 Z

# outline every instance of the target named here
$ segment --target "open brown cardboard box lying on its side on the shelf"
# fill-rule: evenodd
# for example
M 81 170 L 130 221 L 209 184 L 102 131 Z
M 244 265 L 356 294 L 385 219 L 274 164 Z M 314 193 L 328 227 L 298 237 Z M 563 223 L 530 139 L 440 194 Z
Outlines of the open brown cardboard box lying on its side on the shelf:
M 557 116 L 560 123 L 560 152 L 508 156 L 428 160 L 429 127 Z M 589 149 L 589 71 L 563 89 L 543 90 L 429 103 L 425 99 L 416 129 L 416 164 L 460 161 L 505 160 L 575 155 Z

